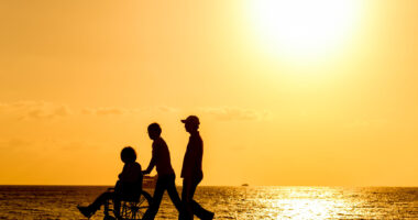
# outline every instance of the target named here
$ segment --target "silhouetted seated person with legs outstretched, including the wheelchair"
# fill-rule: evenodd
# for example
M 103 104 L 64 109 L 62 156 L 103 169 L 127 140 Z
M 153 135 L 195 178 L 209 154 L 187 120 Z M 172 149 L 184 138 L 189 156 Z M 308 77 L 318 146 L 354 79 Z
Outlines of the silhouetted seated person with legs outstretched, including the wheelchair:
M 141 165 L 136 162 L 135 150 L 124 147 L 121 160 L 124 166 L 114 188 L 109 188 L 87 207 L 77 206 L 85 217 L 90 218 L 105 206 L 106 220 L 142 219 L 152 197 L 142 190 L 143 175 Z

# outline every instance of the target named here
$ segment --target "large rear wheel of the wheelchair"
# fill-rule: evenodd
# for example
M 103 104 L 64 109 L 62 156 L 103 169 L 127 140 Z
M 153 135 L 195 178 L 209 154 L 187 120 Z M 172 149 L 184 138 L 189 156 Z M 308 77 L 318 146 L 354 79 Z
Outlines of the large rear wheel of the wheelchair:
M 121 220 L 141 220 L 148 209 L 152 197 L 148 193 L 142 191 L 139 201 L 122 201 L 120 219 Z

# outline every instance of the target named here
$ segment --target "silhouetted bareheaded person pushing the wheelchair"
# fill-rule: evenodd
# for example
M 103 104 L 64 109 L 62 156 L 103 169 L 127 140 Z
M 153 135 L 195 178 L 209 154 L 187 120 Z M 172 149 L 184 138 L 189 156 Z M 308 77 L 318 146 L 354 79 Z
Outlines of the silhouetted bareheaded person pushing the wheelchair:
M 156 166 L 158 178 L 155 185 L 153 200 L 150 208 L 146 210 L 143 220 L 153 220 L 155 218 L 165 190 L 167 190 L 168 196 L 178 212 L 182 212 L 183 210 L 183 204 L 175 185 L 176 175 L 172 167 L 168 146 L 161 138 L 161 127 L 157 123 L 152 123 L 148 125 L 148 135 L 150 139 L 153 140 L 153 151 L 150 165 L 143 174 L 150 174 L 154 166 Z

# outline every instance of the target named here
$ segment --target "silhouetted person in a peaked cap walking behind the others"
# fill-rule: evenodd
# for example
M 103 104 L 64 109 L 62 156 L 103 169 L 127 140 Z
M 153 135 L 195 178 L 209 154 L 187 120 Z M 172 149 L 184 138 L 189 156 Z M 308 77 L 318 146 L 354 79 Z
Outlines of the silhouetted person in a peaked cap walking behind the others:
M 196 215 L 199 219 L 211 220 L 213 219 L 215 213 L 204 209 L 193 199 L 197 185 L 199 185 L 204 178 L 204 173 L 201 170 L 204 142 L 198 131 L 200 124 L 199 118 L 196 116 L 189 116 L 187 119 L 182 120 L 182 122 L 185 123 L 186 131 L 190 133 L 182 168 L 182 201 L 185 206 L 184 215 L 187 219 L 194 219 L 194 215 Z

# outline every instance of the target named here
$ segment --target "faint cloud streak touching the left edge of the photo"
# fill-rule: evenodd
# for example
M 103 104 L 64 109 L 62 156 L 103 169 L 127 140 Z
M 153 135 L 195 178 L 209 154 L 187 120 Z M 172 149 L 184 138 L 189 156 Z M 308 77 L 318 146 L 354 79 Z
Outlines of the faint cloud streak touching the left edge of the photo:
M 20 119 L 52 119 L 72 114 L 72 110 L 67 106 L 45 101 L 0 103 L 0 109 L 9 113 L 18 114 Z

